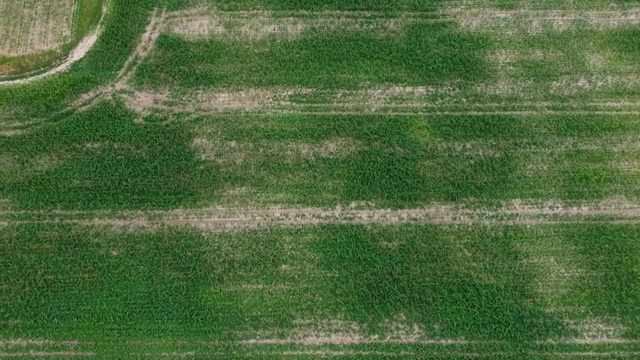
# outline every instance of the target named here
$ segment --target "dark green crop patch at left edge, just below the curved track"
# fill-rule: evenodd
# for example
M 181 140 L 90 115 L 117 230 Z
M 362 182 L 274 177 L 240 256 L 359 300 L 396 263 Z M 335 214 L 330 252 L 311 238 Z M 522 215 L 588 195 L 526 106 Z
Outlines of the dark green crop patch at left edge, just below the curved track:
M 184 126 L 138 125 L 134 119 L 122 106 L 103 103 L 3 139 L 2 153 L 18 164 L 44 156 L 57 165 L 9 175 L 0 194 L 31 209 L 167 208 L 215 188 L 218 172 L 195 159 Z

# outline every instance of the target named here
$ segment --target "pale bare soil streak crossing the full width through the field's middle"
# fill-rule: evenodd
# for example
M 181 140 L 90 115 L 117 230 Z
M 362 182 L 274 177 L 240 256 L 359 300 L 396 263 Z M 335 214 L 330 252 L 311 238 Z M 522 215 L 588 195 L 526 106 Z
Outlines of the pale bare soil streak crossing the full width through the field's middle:
M 23 219 L 25 215 L 30 217 Z M 35 215 L 40 216 L 34 219 Z M 170 211 L 12 212 L 1 211 L 8 225 L 70 223 L 83 226 L 194 226 L 203 229 L 304 226 L 319 224 L 543 225 L 565 223 L 640 223 L 640 203 L 610 199 L 600 203 L 562 201 L 503 202 L 496 209 L 461 204 L 433 204 L 417 209 L 375 209 L 351 206 L 321 208 L 212 208 Z M 9 217 L 9 218 L 8 218 Z M 12 219 L 11 219 L 12 218 Z

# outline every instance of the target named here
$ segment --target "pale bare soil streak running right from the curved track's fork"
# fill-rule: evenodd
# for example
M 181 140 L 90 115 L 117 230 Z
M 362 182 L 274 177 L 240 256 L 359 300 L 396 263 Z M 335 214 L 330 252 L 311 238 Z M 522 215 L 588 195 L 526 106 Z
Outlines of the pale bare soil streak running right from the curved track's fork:
M 625 78 L 626 79 L 626 78 Z M 546 93 L 575 95 L 579 91 L 601 90 L 615 86 L 640 85 L 640 78 L 633 76 L 622 81 L 618 77 L 603 79 L 561 79 L 543 89 Z M 512 86 L 513 85 L 513 86 Z M 484 84 L 478 85 L 466 95 L 491 94 L 513 95 L 534 91 L 527 85 Z M 454 85 L 441 87 L 386 86 L 363 90 L 318 91 L 308 88 L 249 88 L 231 90 L 204 88 L 188 94 L 173 94 L 169 91 L 137 91 L 121 98 L 125 104 L 140 115 L 154 111 L 189 113 L 197 115 L 223 113 L 274 113 L 274 114 L 347 114 L 347 113 L 398 113 L 398 114 L 537 114 L 537 113 L 640 113 L 640 102 L 598 99 L 596 101 L 523 101 L 517 103 L 476 103 L 467 101 L 462 90 Z M 320 96 L 326 102 L 308 104 L 296 100 L 300 97 Z M 565 107 L 567 110 L 559 110 Z

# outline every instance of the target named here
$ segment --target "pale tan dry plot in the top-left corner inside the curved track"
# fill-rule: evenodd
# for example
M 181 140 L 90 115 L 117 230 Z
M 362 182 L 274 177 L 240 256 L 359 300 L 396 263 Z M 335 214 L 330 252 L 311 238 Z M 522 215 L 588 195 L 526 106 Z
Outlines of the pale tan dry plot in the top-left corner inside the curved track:
M 74 0 L 0 2 L 0 55 L 59 50 L 72 40 Z

